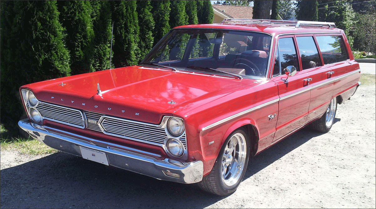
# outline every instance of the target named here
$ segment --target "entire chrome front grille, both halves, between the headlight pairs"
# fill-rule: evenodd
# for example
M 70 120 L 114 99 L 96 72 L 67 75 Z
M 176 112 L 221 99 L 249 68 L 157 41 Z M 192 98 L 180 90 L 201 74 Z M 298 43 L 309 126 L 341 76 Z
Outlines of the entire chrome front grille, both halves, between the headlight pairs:
M 29 102 L 26 102 L 26 108 L 29 111 Z M 87 129 L 103 132 L 104 134 L 115 137 L 155 144 L 158 146 L 164 146 L 165 138 L 169 137 L 163 125 L 120 119 L 91 111 L 82 112 L 80 110 L 45 102 L 39 102 L 35 108 L 41 113 L 42 117 L 47 120 L 78 128 L 85 128 L 86 124 Z M 100 121 L 101 117 L 103 117 L 102 121 Z M 100 126 L 102 126 L 103 131 Z M 163 126 L 163 128 L 161 126 Z M 178 139 L 186 149 L 185 133 Z

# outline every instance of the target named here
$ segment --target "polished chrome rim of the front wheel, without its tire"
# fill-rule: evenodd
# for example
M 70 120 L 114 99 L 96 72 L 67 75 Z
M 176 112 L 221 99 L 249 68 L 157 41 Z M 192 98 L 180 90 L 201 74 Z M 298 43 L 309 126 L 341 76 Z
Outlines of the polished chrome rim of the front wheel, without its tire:
M 234 134 L 224 148 L 222 157 L 222 180 L 227 186 L 239 182 L 247 157 L 246 138 L 241 133 Z

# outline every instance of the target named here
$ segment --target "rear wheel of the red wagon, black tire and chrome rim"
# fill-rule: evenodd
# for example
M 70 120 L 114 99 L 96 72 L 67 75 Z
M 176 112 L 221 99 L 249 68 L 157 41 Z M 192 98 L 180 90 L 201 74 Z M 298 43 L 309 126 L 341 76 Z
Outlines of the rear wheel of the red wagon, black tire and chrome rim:
M 329 103 L 326 113 L 319 119 L 312 122 L 309 126 L 319 132 L 328 132 L 334 123 L 335 113 L 337 112 L 337 98 L 333 98 Z

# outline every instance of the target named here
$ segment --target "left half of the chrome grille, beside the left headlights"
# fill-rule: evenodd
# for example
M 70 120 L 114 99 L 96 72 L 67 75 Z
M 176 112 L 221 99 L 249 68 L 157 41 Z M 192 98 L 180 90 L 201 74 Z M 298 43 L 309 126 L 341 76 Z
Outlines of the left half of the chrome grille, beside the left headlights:
M 80 110 L 44 102 L 39 102 L 35 108 L 41 113 L 44 119 L 77 128 L 85 128 L 85 120 L 83 119 L 83 114 Z

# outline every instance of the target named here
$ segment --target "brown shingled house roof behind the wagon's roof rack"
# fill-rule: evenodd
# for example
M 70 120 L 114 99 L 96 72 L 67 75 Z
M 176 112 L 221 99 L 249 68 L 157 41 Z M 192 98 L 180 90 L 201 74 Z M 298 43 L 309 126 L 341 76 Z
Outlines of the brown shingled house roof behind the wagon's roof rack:
M 252 19 L 252 6 L 212 5 L 217 12 L 225 14 L 229 18 Z

